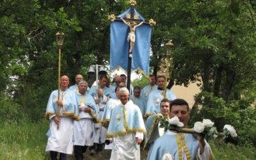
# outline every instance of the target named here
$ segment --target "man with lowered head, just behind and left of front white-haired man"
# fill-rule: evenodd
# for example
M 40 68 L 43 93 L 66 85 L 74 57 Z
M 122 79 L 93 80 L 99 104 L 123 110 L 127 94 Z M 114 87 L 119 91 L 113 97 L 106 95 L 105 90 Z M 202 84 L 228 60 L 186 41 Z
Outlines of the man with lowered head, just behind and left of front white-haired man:
M 102 113 L 105 109 L 106 103 L 108 102 L 108 97 L 110 95 L 110 92 L 108 88 L 106 87 L 106 83 L 108 81 L 108 77 L 106 76 L 100 76 L 99 86 L 97 89 L 97 86 L 93 86 L 90 89 L 89 94 L 92 95 L 95 99 L 95 102 L 97 104 L 97 111 L 99 112 L 99 120 L 101 119 Z M 95 125 L 95 144 L 93 145 L 93 149 L 91 151 L 91 155 L 95 154 L 96 152 L 101 152 L 103 149 L 103 144 L 106 140 L 106 128 L 102 127 L 101 124 Z

